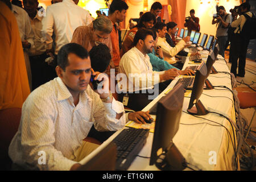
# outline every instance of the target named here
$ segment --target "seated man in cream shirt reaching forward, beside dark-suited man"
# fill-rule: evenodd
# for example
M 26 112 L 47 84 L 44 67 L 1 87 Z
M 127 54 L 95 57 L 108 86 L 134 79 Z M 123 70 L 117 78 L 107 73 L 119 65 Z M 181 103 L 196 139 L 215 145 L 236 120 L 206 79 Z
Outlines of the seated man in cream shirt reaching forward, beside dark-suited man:
M 156 44 L 156 46 L 160 46 L 162 48 L 164 60 L 174 65 L 176 68 L 182 69 L 183 63 L 177 62 L 175 59 L 175 55 L 177 55 L 177 53 L 179 53 L 185 47 L 190 37 L 187 36 L 183 38 L 176 44 L 175 47 L 171 47 L 167 43 L 165 38 L 166 32 L 167 32 L 166 24 L 162 22 L 158 22 L 155 24 L 154 28 L 156 28 L 156 30 L 158 30 L 158 33 L 159 33 L 158 43 Z

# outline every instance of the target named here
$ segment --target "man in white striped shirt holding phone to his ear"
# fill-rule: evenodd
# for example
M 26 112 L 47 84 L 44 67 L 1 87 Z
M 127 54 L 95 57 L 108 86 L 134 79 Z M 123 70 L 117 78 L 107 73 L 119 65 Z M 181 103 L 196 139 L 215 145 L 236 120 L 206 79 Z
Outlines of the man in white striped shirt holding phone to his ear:
M 98 147 L 83 141 L 92 125 L 101 131 L 125 126 L 122 103 L 110 94 L 108 77 L 92 73 L 82 46 L 63 46 L 57 63 L 59 77 L 39 86 L 23 104 L 19 129 L 9 147 L 10 158 L 19 167 L 77 169 L 88 151 Z M 91 88 L 91 74 L 102 82 L 102 89 Z

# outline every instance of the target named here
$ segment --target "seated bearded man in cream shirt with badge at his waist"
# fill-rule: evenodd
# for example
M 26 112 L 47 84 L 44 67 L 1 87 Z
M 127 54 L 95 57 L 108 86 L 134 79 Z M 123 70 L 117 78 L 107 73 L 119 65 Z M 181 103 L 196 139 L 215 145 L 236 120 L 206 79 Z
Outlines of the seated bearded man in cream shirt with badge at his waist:
M 179 75 L 175 68 L 163 72 L 153 71 L 147 55 L 153 47 L 152 32 L 142 28 L 134 36 L 134 47 L 122 56 L 119 64 L 118 92 L 121 94 L 118 100 L 126 102 L 125 105 L 135 111 L 142 110 L 158 96 L 159 84 Z

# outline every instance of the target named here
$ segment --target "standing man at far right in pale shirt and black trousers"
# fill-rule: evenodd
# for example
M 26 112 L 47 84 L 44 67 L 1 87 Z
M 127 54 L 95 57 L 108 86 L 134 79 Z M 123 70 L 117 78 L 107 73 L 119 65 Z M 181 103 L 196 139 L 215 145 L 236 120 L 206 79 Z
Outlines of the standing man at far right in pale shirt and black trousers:
M 245 77 L 245 63 L 246 63 L 246 52 L 247 47 L 250 42 L 248 37 L 249 32 L 243 31 L 243 26 L 246 23 L 247 18 L 253 17 L 253 14 L 250 12 L 250 4 L 248 2 L 242 3 L 241 15 L 237 20 L 232 22 L 231 26 L 236 27 L 234 30 L 234 35 L 232 38 L 232 65 L 231 73 L 234 76 Z M 249 17 L 248 17 L 249 16 Z M 250 26 L 247 24 L 247 26 Z M 255 31 L 255 30 L 246 30 L 246 31 Z M 239 61 L 238 61 L 239 58 Z M 237 74 L 237 61 L 238 61 L 238 74 Z

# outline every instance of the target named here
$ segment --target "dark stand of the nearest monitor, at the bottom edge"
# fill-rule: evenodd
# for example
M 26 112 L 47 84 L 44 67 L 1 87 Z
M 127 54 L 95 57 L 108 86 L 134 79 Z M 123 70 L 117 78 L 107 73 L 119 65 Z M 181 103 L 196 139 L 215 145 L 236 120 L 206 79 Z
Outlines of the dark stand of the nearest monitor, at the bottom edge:
M 155 165 L 163 171 L 182 171 L 187 166 L 185 158 L 173 142 L 166 151 L 160 154 Z

